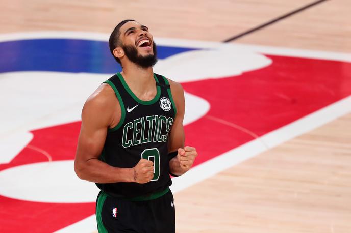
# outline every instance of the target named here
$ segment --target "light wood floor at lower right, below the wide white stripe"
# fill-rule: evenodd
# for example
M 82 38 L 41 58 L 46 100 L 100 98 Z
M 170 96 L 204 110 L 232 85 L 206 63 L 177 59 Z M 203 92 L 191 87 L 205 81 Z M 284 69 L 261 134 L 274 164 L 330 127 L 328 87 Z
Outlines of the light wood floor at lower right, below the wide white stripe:
M 350 232 L 345 129 L 351 114 L 175 194 L 179 232 Z

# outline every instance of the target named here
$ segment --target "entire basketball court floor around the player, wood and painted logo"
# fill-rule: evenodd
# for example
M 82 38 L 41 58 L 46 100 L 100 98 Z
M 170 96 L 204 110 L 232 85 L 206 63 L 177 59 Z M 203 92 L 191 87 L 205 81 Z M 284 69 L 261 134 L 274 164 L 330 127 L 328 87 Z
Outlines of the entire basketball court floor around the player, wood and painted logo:
M 149 27 L 185 90 L 177 232 L 351 232 L 351 2 L 2 1 L 0 232 L 97 232 L 73 171 L 86 98 L 120 67 L 108 38 Z M 117 213 L 118 215 L 118 213 Z

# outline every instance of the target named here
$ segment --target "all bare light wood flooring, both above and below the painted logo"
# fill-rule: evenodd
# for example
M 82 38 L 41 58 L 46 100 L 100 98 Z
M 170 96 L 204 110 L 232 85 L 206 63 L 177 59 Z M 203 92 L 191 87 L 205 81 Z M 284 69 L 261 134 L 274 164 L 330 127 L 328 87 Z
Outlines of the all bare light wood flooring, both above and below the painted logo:
M 134 18 L 155 37 L 222 41 L 308 3 L 2 0 L 0 33 L 110 33 Z M 351 52 L 349 9 L 326 1 L 236 42 Z M 175 194 L 177 232 L 351 232 L 350 142 L 347 114 Z

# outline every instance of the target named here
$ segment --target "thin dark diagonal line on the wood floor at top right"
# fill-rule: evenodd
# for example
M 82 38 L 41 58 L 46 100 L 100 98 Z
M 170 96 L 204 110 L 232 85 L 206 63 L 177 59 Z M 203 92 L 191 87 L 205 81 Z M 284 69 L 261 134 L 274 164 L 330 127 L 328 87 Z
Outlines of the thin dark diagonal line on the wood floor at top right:
M 317 5 L 317 4 L 322 3 L 322 2 L 325 2 L 325 1 L 327 1 L 327 0 L 318 0 L 318 1 L 316 1 L 316 2 L 310 3 L 310 4 L 306 5 L 306 6 L 300 7 L 300 8 L 298 8 L 298 9 L 296 9 L 296 10 L 293 10 L 293 11 L 291 11 L 291 12 L 289 12 L 289 13 L 286 13 L 286 14 L 284 14 L 284 15 L 281 15 L 281 16 L 277 17 L 277 18 L 274 18 L 274 19 L 272 19 L 272 20 L 269 20 L 268 22 L 265 22 L 265 23 L 263 23 L 263 24 L 261 24 L 261 25 L 258 25 L 258 26 L 254 27 L 254 28 L 251 28 L 251 29 L 249 29 L 249 30 L 247 30 L 247 31 L 245 31 L 245 32 L 239 33 L 239 34 L 237 34 L 237 35 L 235 35 L 235 36 L 233 36 L 233 37 L 231 37 L 231 38 L 228 38 L 228 39 L 226 39 L 226 40 L 223 40 L 222 42 L 228 43 L 228 42 L 237 40 L 237 39 L 239 39 L 240 37 L 243 37 L 243 36 L 246 36 L 246 35 L 248 35 L 248 34 L 250 34 L 250 33 L 256 32 L 256 31 L 258 31 L 258 30 L 260 30 L 260 29 L 262 29 L 262 28 L 264 28 L 264 27 L 266 27 L 266 26 L 269 26 L 270 24 L 273 24 L 273 23 L 275 23 L 275 22 L 278 22 L 278 21 L 280 21 L 280 20 L 282 20 L 282 19 L 285 19 L 285 18 L 287 18 L 287 17 L 289 17 L 289 16 L 292 16 L 292 15 L 298 13 L 298 12 L 301 12 L 301 11 L 303 11 L 303 10 L 306 10 L 306 9 L 308 9 L 308 8 L 310 8 L 310 7 L 313 7 L 313 6 Z

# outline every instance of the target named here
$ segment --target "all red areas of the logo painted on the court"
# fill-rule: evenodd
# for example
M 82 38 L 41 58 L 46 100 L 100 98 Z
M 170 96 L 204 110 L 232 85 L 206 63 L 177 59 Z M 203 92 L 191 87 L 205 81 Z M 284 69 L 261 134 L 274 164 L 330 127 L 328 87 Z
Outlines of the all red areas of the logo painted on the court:
M 186 144 L 199 153 L 194 165 L 254 139 L 229 124 L 261 136 L 351 94 L 349 63 L 267 56 L 273 63 L 260 70 L 183 83 L 187 92 L 211 105 L 203 118 L 185 127 Z M 79 129 L 80 122 L 74 122 L 34 130 L 29 145 L 47 151 L 54 161 L 73 159 Z M 41 161 L 47 158 L 27 147 L 10 163 L 0 164 L 0 170 Z M 19 215 L 20 209 L 31 210 L 31 215 Z M 53 232 L 94 213 L 95 203 L 41 203 L 0 196 L 0 231 Z

